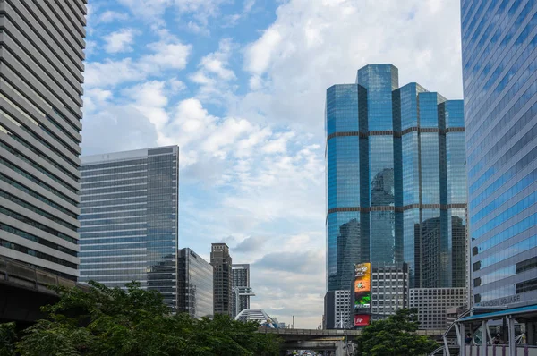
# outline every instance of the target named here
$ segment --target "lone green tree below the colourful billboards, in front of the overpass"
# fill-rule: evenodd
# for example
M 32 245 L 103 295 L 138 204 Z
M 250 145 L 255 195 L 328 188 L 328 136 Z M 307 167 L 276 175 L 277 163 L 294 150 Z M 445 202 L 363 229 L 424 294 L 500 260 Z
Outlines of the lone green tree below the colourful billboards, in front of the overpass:
M 406 356 L 432 352 L 438 344 L 427 336 L 416 335 L 418 310 L 399 309 L 396 315 L 371 323 L 358 337 L 358 355 Z

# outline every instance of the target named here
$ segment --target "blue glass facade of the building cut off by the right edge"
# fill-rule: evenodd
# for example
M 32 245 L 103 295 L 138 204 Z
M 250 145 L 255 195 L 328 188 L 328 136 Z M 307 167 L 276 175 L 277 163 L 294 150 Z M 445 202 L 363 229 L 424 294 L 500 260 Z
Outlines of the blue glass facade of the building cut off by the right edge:
M 537 303 L 537 3 L 462 0 L 473 302 Z

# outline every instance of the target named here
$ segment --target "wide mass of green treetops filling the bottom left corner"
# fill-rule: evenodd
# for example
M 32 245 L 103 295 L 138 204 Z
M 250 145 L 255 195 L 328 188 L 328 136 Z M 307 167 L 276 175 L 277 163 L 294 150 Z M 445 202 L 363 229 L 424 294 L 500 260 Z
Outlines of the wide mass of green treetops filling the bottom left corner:
M 0 325 L 0 356 L 272 356 L 273 335 L 256 333 L 256 323 L 223 315 L 200 320 L 170 315 L 158 292 L 90 283 L 90 291 L 55 288 L 60 301 L 44 308 L 47 318 L 22 332 Z M 15 350 L 16 352 L 15 353 Z

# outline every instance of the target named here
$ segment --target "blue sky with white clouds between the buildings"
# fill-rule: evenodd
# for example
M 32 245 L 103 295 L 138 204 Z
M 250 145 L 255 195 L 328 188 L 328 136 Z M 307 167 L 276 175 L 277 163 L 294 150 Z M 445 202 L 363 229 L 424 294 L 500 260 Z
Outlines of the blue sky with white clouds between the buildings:
M 179 247 L 226 242 L 252 309 L 316 328 L 326 89 L 365 64 L 462 98 L 458 0 L 92 0 L 82 154 L 180 147 Z

